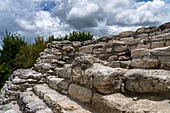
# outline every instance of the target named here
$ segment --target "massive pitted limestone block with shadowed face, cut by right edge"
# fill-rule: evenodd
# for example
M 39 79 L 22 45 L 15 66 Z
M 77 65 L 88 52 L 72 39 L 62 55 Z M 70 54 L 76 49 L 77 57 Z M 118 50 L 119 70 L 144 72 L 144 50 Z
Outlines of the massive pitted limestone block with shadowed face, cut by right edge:
M 138 93 L 168 92 L 169 75 L 166 70 L 132 69 L 125 73 L 125 88 Z

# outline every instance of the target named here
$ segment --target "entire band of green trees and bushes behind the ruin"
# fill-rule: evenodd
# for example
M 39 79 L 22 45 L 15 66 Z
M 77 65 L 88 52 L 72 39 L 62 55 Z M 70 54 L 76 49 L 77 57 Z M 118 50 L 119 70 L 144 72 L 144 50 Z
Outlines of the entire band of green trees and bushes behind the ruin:
M 27 44 L 24 39 L 20 34 L 11 34 L 7 30 L 5 33 L 2 33 L 2 49 L 0 49 L 0 89 L 14 70 L 31 68 L 39 57 L 39 53 L 46 48 L 47 43 L 51 43 L 54 40 L 83 42 L 93 40 L 93 35 L 73 31 L 63 38 L 54 38 L 54 35 L 49 36 L 47 41 L 44 41 L 43 37 L 37 37 L 35 38 L 34 44 Z

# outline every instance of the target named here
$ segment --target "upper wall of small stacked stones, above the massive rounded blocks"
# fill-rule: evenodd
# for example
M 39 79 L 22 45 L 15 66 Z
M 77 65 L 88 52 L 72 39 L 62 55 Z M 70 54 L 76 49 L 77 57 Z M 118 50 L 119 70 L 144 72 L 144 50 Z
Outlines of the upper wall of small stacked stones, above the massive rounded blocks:
M 170 23 L 125 31 L 85 42 L 53 41 L 40 54 L 34 69 L 53 73 L 77 53 L 91 54 L 101 64 L 121 68 L 170 69 Z M 48 72 L 48 73 L 47 73 Z

